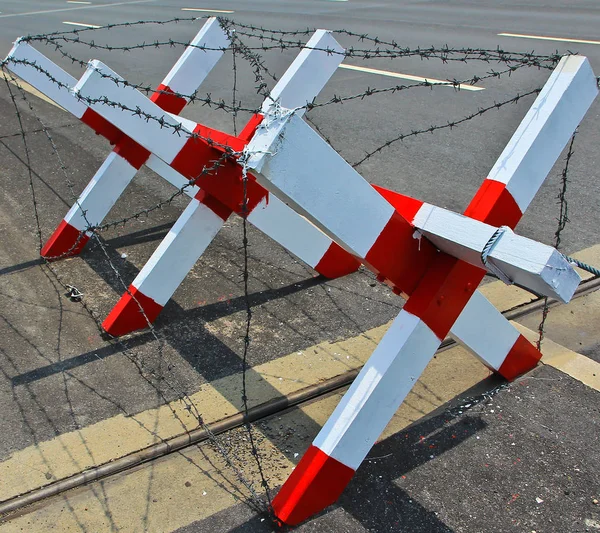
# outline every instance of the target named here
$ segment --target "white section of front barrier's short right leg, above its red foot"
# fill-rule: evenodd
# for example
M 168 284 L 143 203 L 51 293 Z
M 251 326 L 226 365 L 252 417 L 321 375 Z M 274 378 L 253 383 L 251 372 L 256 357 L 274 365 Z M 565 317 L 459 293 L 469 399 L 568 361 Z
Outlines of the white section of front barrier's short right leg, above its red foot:
M 517 329 L 479 291 L 471 296 L 450 333 L 494 370 L 502 366 L 519 338 Z

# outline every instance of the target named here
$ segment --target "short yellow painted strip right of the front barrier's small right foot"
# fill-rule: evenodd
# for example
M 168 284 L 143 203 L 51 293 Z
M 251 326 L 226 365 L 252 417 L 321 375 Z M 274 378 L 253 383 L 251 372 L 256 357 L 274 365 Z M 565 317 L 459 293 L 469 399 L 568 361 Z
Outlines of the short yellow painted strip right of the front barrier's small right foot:
M 535 342 L 537 340 L 537 331 L 532 331 L 521 324 L 514 323 L 514 325 L 530 341 Z M 548 334 L 551 335 L 552 330 L 549 330 Z M 600 391 L 600 363 L 557 344 L 547 336 L 544 337 L 542 352 L 542 363 L 560 370 L 592 389 Z

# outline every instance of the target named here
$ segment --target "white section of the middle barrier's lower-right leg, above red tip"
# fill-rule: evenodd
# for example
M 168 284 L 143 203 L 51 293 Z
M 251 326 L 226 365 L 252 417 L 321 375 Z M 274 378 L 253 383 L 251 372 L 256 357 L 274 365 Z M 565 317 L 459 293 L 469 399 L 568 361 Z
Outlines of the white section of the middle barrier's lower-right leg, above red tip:
M 248 215 L 248 222 L 314 268 L 331 246 L 331 239 L 274 195 Z

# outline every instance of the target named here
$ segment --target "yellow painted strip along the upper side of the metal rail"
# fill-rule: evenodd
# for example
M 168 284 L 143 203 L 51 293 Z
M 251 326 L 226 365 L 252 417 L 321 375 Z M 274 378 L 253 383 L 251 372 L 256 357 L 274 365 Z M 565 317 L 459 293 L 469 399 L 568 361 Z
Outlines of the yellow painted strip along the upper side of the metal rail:
M 573 255 L 595 264 L 594 257 L 600 255 L 600 246 Z M 489 283 L 482 287 L 482 292 L 501 310 L 512 309 L 534 298 L 530 293 L 502 282 Z M 247 375 L 249 406 L 359 368 L 371 355 L 390 323 L 356 337 L 334 343 L 322 342 L 254 367 L 253 372 Z M 228 326 L 227 318 L 207 325 L 209 331 Z M 460 358 L 449 355 L 453 353 L 462 355 Z M 449 368 L 437 366 L 441 361 L 450 361 Z M 439 405 L 438 396 L 449 399 L 448 394 L 458 394 L 461 387 L 468 388 L 488 374 L 487 368 L 476 358 L 456 347 L 447 350 L 429 365 L 423 376 L 423 380 L 431 382 L 428 388 L 421 389 L 417 383 L 413 392 L 424 398 L 433 409 Z M 228 376 L 201 386 L 191 395 L 206 423 L 241 410 L 240 379 L 239 375 Z M 435 385 L 434 380 L 438 380 Z M 456 383 L 458 388 L 454 388 L 452 383 Z M 435 391 L 435 394 L 428 391 Z M 184 407 L 179 402 L 172 402 L 131 416 L 118 415 L 15 452 L 0 463 L 0 501 L 197 428 L 197 421 Z M 402 409 L 413 409 L 411 420 L 429 412 L 412 396 Z

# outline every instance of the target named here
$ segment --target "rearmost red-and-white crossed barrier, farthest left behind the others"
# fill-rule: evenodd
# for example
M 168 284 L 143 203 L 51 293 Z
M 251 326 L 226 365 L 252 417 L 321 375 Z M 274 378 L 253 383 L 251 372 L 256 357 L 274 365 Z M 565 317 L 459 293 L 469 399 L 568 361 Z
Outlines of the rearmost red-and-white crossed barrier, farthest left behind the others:
M 157 87 L 151 100 L 164 111 L 175 114 L 181 112 L 188 102 L 189 95 L 204 81 L 228 45 L 227 35 L 218 20 L 209 19 Z M 114 150 L 41 252 L 46 259 L 76 255 L 89 240 L 89 235 L 84 233 L 85 228 L 100 224 L 104 220 L 137 171 L 143 164 L 148 163 L 151 154 L 70 93 L 68 88 L 74 87 L 77 80 L 26 42 L 17 41 L 7 57 L 7 62 L 10 70 L 16 75 L 115 144 Z M 45 73 L 36 69 L 32 63 Z M 58 80 L 62 86 L 49 76 Z M 101 127 L 98 127 L 98 124 Z

